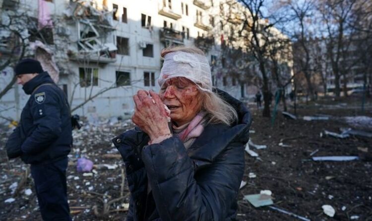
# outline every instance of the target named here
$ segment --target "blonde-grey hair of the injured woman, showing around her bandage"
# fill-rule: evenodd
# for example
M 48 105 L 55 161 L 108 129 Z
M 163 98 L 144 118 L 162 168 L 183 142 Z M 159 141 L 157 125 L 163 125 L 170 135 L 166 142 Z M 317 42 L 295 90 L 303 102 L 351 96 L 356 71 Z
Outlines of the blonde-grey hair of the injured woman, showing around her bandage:
M 163 49 L 161 52 L 161 56 L 164 57 L 168 53 L 179 51 L 205 56 L 204 52 L 200 49 L 185 46 Z M 209 120 L 209 123 L 223 123 L 230 126 L 238 119 L 236 110 L 229 103 L 224 101 L 218 94 L 211 91 L 203 91 L 200 89 L 199 92 L 202 97 L 202 109 L 209 113 L 211 118 Z

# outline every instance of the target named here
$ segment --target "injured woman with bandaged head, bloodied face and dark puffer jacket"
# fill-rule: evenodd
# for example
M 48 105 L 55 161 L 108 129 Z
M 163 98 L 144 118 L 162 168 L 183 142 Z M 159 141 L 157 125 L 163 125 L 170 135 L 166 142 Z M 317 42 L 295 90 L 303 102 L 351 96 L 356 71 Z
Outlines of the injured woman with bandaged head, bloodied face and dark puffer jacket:
M 127 220 L 235 220 L 249 111 L 212 89 L 201 50 L 166 49 L 162 57 L 159 95 L 139 90 L 137 127 L 113 139 L 131 193 Z

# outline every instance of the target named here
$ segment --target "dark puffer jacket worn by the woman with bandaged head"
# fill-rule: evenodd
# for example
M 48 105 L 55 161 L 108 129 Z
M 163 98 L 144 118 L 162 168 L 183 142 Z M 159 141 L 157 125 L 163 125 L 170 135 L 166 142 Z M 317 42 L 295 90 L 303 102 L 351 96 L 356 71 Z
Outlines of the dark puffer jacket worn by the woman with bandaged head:
M 143 220 L 147 177 L 157 221 L 235 220 L 251 117 L 243 103 L 219 93 L 237 110 L 239 121 L 232 127 L 207 125 L 188 149 L 177 137 L 146 146 L 149 138 L 138 128 L 113 139 L 131 193 L 127 221 Z

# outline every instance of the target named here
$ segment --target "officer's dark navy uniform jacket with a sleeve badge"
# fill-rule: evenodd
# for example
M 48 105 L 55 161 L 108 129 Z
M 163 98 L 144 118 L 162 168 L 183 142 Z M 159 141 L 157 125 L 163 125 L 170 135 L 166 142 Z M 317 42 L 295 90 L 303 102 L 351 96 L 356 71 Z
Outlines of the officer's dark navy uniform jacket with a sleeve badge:
M 70 110 L 63 91 L 47 72 L 25 83 L 23 90 L 31 96 L 7 146 L 20 147 L 25 163 L 46 163 L 67 156 L 72 133 Z

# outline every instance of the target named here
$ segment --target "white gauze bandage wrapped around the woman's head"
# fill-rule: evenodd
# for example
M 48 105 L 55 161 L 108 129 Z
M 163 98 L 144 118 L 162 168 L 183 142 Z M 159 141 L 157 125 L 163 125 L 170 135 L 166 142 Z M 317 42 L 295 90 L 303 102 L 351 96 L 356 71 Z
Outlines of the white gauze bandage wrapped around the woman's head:
M 165 55 L 158 83 L 160 87 L 170 78 L 186 77 L 201 90 L 212 91 L 210 66 L 205 56 L 187 52 L 171 52 Z

